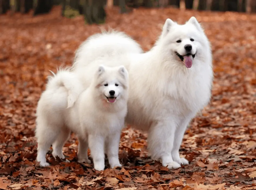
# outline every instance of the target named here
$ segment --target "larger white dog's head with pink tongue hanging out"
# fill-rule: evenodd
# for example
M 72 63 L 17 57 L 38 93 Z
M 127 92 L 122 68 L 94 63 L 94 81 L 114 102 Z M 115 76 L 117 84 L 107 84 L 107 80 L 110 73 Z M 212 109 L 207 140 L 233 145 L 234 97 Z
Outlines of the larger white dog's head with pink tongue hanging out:
M 202 55 L 205 48 L 209 47 L 208 39 L 195 17 L 191 17 L 183 25 L 166 19 L 160 43 L 167 54 L 175 55 L 187 68 L 192 67 L 197 55 Z

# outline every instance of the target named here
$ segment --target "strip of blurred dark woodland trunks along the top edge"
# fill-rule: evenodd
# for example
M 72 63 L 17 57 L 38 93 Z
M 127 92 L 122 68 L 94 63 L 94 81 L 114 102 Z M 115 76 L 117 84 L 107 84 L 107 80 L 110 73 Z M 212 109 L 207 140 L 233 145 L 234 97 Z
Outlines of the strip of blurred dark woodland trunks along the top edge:
M 181 10 L 213 10 L 213 11 L 238 11 L 256 12 L 256 0 L 0 0 L 0 14 L 11 10 L 26 13 L 33 9 L 34 15 L 47 13 L 53 5 L 62 4 L 62 15 L 69 11 L 72 17 L 79 14 L 85 15 L 88 23 L 104 22 L 106 12 L 104 6 L 119 6 L 120 13 L 129 12 L 128 7 L 179 7 Z M 70 8 L 72 7 L 72 8 Z M 72 11 L 75 11 L 73 14 Z

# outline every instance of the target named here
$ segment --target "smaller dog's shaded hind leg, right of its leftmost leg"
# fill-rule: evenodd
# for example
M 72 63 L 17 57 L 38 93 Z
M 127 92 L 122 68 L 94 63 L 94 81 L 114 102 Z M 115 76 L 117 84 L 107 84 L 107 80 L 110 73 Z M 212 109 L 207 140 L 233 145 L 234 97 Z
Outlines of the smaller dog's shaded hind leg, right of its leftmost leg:
M 56 140 L 52 144 L 52 155 L 54 158 L 56 158 L 56 156 L 58 156 L 61 159 L 65 158 L 65 156 L 62 152 L 62 148 L 63 148 L 65 142 L 68 140 L 69 135 L 70 135 L 70 130 L 68 128 L 60 129 Z

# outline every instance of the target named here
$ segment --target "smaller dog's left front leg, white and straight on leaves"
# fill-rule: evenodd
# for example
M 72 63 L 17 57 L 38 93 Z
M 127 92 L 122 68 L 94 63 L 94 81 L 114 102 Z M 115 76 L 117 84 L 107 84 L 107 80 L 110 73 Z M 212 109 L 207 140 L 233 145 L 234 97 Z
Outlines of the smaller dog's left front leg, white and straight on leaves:
M 104 155 L 104 141 L 105 138 L 101 135 L 89 135 L 88 142 L 93 158 L 95 170 L 104 170 L 105 168 L 105 155 Z

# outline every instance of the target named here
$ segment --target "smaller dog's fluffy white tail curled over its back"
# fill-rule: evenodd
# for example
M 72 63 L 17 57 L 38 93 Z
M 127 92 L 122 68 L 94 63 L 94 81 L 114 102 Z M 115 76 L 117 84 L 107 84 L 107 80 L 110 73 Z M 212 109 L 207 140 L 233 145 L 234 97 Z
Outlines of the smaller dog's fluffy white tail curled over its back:
M 57 90 L 60 87 L 65 87 L 68 91 L 68 107 L 74 105 L 79 94 L 83 91 L 82 83 L 79 81 L 75 73 L 69 71 L 68 68 L 60 68 L 57 74 L 50 71 L 53 76 L 49 76 L 49 81 L 46 86 L 47 89 Z

